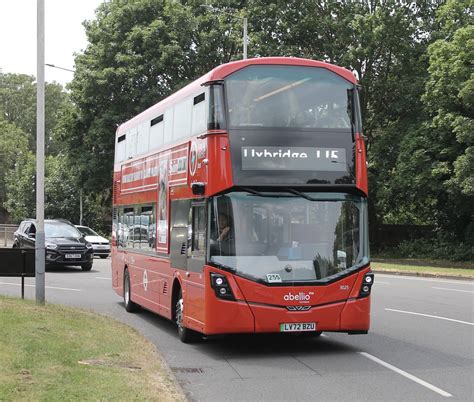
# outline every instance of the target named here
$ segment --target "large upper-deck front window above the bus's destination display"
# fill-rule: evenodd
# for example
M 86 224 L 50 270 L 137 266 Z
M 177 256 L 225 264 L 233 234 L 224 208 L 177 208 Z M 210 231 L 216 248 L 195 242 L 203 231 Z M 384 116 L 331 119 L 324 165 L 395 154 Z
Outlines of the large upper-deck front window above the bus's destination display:
M 225 85 L 233 128 L 351 127 L 353 84 L 325 68 L 249 66 Z

